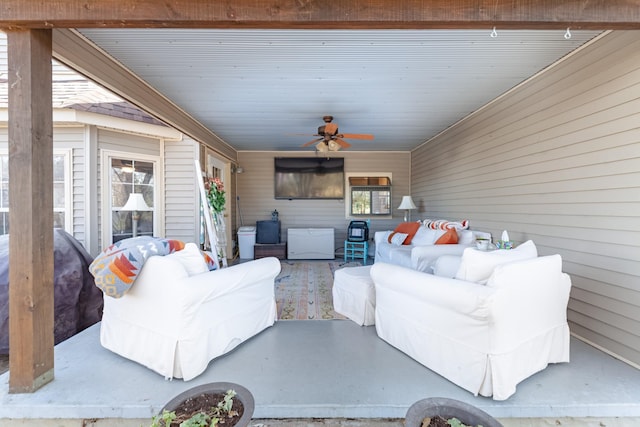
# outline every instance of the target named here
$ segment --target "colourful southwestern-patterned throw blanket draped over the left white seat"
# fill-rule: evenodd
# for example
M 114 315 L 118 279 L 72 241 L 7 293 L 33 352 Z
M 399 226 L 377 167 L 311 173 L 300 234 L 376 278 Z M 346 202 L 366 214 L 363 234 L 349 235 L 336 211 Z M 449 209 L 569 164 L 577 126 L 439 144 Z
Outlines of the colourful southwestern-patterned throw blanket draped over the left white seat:
M 141 236 L 124 239 L 106 248 L 89 266 L 98 288 L 120 298 L 133 285 L 145 261 L 154 255 L 168 255 L 184 248 L 180 240 Z

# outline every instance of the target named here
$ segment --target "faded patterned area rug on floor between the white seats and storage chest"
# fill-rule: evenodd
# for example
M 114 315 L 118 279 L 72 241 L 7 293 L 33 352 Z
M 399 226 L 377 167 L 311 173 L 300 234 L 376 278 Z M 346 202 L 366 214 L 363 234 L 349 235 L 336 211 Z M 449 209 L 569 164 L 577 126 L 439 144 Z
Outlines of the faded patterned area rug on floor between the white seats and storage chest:
M 362 263 L 339 261 L 286 261 L 276 277 L 279 320 L 346 319 L 333 310 L 333 274 Z

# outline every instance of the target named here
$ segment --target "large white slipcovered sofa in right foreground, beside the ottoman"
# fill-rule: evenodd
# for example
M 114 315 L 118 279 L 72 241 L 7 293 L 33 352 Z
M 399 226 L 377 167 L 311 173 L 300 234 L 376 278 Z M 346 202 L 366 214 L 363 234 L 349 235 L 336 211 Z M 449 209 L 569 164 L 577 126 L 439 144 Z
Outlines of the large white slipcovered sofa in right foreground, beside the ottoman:
M 537 257 L 533 242 L 522 246 L 466 249 L 459 278 L 375 263 L 378 336 L 474 395 L 495 400 L 507 399 L 548 363 L 568 362 L 570 278 L 560 255 Z

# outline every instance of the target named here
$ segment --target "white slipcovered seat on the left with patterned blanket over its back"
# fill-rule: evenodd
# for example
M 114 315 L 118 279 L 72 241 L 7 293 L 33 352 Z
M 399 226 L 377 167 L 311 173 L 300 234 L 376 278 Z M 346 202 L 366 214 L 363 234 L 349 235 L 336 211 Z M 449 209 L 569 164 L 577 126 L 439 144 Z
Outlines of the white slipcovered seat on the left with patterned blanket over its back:
M 100 328 L 103 347 L 185 381 L 274 324 L 280 272 L 273 257 L 208 271 L 189 246 L 150 257 L 126 294 L 105 296 Z

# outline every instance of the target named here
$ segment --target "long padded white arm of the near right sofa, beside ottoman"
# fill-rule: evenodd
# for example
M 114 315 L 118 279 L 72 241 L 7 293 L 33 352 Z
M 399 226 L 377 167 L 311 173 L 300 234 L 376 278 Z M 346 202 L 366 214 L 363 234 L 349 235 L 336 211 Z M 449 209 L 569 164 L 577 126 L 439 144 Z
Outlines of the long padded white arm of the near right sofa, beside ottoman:
M 489 299 L 495 292 L 495 289 L 477 283 L 438 277 L 383 262 L 371 267 L 371 278 L 376 287 L 376 304 L 384 299 L 384 296 L 379 297 L 379 292 L 392 292 L 402 294 L 407 301 L 416 300 L 481 318 L 488 316 Z

